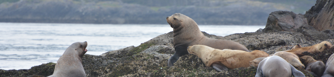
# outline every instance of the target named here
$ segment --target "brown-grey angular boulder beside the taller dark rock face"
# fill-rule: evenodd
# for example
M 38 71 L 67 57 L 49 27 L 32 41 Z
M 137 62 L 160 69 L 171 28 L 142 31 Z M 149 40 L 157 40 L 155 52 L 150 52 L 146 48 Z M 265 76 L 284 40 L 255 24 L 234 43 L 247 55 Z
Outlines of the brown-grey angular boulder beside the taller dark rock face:
M 289 11 L 275 11 L 269 14 L 266 28 L 264 28 L 263 32 L 297 32 L 297 29 L 303 25 L 308 24 L 302 14 L 295 14 Z

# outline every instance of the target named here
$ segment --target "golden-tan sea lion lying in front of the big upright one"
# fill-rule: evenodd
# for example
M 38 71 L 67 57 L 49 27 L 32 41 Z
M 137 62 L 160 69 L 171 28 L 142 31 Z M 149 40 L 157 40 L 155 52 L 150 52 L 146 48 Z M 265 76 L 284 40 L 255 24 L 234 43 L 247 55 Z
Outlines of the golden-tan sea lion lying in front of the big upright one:
M 213 67 L 219 72 L 239 67 L 249 67 L 249 61 L 269 56 L 266 52 L 259 50 L 253 52 L 230 49 L 219 50 L 204 45 L 189 46 L 188 52 L 201 58 L 205 66 Z

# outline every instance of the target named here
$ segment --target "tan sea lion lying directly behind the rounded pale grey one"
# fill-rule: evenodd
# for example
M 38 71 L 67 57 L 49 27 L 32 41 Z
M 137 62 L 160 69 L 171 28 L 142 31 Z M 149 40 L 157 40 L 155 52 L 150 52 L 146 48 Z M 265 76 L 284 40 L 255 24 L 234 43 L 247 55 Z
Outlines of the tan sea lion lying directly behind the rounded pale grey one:
M 273 56 L 279 56 L 289 62 L 292 66 L 298 67 L 300 69 L 304 69 L 303 63 L 300 61 L 299 57 L 293 53 L 280 51 L 276 52 Z

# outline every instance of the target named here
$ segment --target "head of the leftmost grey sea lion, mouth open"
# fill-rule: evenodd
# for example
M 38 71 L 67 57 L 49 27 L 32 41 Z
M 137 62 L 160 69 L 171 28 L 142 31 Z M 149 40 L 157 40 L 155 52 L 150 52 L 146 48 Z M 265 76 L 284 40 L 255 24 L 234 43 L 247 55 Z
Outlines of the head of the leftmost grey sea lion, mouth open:
M 67 50 L 74 50 L 74 52 L 71 52 L 71 51 L 68 51 L 68 52 L 64 52 L 64 53 L 75 53 L 77 54 L 80 58 L 82 58 L 83 55 L 86 54 L 86 52 L 88 51 L 86 49 L 87 47 L 87 42 L 75 42 L 73 43 L 72 45 L 70 45 L 67 49 Z

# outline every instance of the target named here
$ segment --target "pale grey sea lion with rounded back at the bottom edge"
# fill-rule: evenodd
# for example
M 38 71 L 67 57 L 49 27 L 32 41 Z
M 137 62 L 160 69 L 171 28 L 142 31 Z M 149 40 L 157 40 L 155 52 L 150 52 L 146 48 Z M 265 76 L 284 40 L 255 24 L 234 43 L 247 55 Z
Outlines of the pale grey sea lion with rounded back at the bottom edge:
M 279 56 L 263 59 L 258 66 L 255 77 L 305 77 L 304 73 Z

